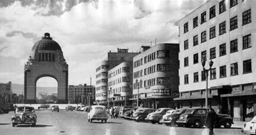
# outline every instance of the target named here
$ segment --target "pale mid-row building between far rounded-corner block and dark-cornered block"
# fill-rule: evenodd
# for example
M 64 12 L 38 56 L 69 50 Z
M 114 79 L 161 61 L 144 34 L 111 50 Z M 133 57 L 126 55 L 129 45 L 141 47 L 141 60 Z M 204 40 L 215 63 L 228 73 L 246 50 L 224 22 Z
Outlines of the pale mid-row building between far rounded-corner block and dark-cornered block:
M 108 71 L 108 99 L 111 106 L 131 105 L 132 61 L 122 62 Z

